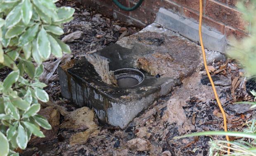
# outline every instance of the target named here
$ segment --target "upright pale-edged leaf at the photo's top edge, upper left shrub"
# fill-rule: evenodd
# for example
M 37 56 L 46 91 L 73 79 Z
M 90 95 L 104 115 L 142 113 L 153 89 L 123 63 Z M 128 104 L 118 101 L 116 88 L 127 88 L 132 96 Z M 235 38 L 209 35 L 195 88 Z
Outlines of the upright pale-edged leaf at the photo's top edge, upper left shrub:
M 24 0 L 23 5 L 21 7 L 21 18 L 25 25 L 28 25 L 30 19 L 32 17 L 32 4 L 30 0 Z

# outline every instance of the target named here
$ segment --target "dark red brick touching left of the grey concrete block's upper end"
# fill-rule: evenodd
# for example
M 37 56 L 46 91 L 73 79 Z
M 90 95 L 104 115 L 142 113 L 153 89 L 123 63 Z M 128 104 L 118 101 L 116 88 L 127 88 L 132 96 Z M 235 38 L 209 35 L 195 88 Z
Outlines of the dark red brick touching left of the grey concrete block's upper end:
M 139 7 L 138 9 L 131 11 L 130 16 L 142 21 L 145 24 L 150 24 L 150 23 L 154 22 L 156 14 L 149 9 Z

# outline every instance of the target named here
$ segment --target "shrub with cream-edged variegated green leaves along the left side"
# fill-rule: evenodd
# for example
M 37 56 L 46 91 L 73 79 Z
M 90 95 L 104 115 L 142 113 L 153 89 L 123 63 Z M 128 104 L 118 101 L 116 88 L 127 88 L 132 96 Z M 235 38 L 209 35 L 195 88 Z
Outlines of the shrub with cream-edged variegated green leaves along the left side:
M 64 34 L 62 24 L 71 21 L 74 13 L 71 7 L 56 7 L 55 2 L 0 0 L 0 68 L 12 69 L 0 81 L 0 156 L 18 156 L 14 150 L 25 149 L 32 134 L 45 136 L 40 126 L 51 129 L 37 114 L 39 101 L 49 100 L 39 76 L 42 62 L 51 54 L 71 53 L 58 38 Z

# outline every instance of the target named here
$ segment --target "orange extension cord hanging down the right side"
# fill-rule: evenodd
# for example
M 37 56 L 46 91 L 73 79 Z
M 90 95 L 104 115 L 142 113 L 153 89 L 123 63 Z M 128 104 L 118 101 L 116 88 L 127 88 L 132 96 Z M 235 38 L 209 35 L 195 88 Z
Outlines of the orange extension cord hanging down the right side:
M 219 96 L 216 92 L 216 88 L 215 88 L 215 85 L 213 83 L 213 80 L 211 78 L 211 75 L 209 73 L 209 70 L 208 70 L 208 67 L 207 67 L 207 62 L 206 62 L 206 56 L 205 56 L 205 52 L 204 52 L 204 44 L 203 44 L 203 38 L 202 38 L 202 17 L 203 17 L 203 4 L 202 4 L 202 0 L 199 0 L 199 4 L 200 4 L 200 16 L 199 16 L 199 39 L 200 39 L 200 44 L 201 44 L 201 49 L 202 49 L 202 53 L 203 53 L 203 58 L 204 58 L 204 67 L 205 67 L 205 70 L 206 70 L 206 73 L 207 73 L 207 76 L 211 82 L 211 86 L 213 87 L 213 92 L 214 92 L 214 96 L 216 98 L 216 101 L 218 103 L 218 106 L 220 108 L 220 111 L 222 113 L 222 116 L 223 116 L 223 120 L 224 120 L 224 130 L 225 132 L 228 131 L 228 127 L 227 127 L 227 118 L 226 118 L 226 115 L 225 115 L 225 111 L 223 110 L 221 104 L 220 104 L 220 99 L 219 99 Z M 227 141 L 229 141 L 229 137 L 228 135 L 226 135 L 226 139 Z M 230 147 L 230 145 L 228 144 L 228 147 Z M 228 148 L 228 154 L 230 154 L 230 148 Z

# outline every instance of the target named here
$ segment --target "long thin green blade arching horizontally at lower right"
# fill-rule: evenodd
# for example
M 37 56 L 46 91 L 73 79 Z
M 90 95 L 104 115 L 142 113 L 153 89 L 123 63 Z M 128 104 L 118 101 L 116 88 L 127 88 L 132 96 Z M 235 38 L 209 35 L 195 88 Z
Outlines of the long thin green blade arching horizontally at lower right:
M 187 138 L 187 137 L 201 136 L 201 135 L 228 135 L 228 136 L 256 139 L 256 134 L 254 134 L 254 133 L 224 132 L 224 131 L 197 132 L 197 133 L 182 135 L 182 136 L 178 136 L 178 137 L 173 137 L 173 139 L 180 139 L 180 138 Z

